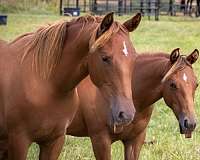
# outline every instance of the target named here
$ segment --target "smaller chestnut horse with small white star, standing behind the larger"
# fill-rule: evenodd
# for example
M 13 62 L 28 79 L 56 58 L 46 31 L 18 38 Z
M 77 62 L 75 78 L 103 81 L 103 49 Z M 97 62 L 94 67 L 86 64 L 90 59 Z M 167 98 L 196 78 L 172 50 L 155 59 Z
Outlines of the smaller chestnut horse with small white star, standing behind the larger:
M 197 80 L 192 64 L 198 55 L 195 50 L 184 57 L 179 49 L 172 51 L 170 56 L 164 53 L 138 55 L 132 81 L 135 118 L 130 125 L 118 127 L 117 134 L 106 123 L 107 107 L 98 88 L 89 77 L 83 80 L 78 85 L 80 106 L 67 134 L 89 136 L 97 160 L 110 160 L 111 144 L 117 140 L 125 146 L 125 159 L 137 160 L 153 111 L 151 105 L 163 97 L 176 115 L 181 133 L 190 137 L 196 125 L 194 92 Z

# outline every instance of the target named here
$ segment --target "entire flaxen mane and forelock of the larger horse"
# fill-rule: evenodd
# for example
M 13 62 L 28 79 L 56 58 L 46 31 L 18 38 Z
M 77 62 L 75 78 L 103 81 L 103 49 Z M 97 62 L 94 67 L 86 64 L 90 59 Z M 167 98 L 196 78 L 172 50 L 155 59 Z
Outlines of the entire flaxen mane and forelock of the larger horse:
M 79 37 L 83 32 L 83 28 L 87 24 L 91 22 L 97 23 L 97 27 L 92 33 L 89 41 L 91 52 L 103 46 L 114 33 L 118 32 L 119 29 L 122 29 L 124 32 L 126 31 L 120 23 L 114 22 L 110 29 L 96 40 L 96 31 L 101 20 L 102 17 L 87 15 L 77 19 L 72 19 L 70 22 L 58 21 L 57 23 L 41 27 L 36 32 L 26 33 L 22 36 L 19 36 L 11 43 L 15 43 L 21 38 L 31 35 L 29 41 L 25 45 L 25 53 L 22 56 L 21 62 L 24 61 L 27 55 L 32 53 L 32 68 L 39 73 L 39 76 L 44 79 L 48 79 L 55 71 L 56 66 L 61 60 L 65 38 L 67 36 L 67 28 L 69 25 L 77 23 L 82 24 L 77 36 Z

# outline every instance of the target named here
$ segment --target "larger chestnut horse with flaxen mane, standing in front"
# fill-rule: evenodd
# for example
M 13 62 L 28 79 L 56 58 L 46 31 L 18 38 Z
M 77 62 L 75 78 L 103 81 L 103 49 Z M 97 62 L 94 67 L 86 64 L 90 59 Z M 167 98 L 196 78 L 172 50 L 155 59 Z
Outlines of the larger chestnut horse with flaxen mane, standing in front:
M 129 32 L 140 20 L 140 14 L 124 24 L 113 13 L 84 16 L 0 45 L 0 138 L 8 140 L 10 160 L 25 160 L 32 142 L 41 160 L 58 158 L 79 105 L 75 86 L 88 74 L 109 103 L 110 125 L 133 120 L 136 54 Z

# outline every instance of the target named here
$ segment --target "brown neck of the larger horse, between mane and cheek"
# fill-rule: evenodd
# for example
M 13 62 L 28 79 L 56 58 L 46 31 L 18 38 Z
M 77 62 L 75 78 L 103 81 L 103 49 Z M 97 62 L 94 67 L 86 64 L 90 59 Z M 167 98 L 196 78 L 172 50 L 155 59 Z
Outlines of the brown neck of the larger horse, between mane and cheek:
M 59 89 L 73 89 L 88 75 L 87 57 L 89 40 L 96 25 L 89 25 L 80 31 L 82 24 L 74 24 L 68 28 L 68 35 L 63 50 L 61 63 L 57 66 L 53 83 Z

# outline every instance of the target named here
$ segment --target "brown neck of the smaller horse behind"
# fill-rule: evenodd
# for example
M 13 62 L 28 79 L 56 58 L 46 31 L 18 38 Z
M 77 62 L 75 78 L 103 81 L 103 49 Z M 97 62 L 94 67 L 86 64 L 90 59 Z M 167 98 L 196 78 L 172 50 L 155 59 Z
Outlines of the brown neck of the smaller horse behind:
M 150 106 L 162 98 L 162 83 L 169 59 L 164 56 L 139 55 L 133 72 L 133 99 L 137 109 Z

